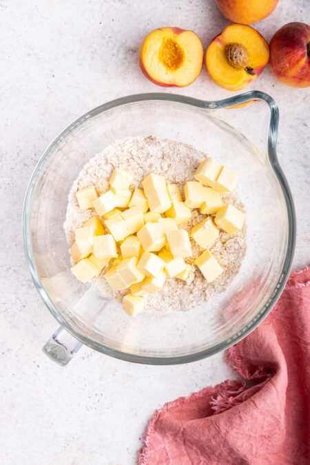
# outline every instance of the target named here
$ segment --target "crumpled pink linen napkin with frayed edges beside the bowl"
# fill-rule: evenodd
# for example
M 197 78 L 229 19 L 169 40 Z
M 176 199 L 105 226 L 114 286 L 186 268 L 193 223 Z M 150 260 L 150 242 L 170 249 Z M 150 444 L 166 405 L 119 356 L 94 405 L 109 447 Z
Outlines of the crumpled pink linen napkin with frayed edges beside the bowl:
M 226 359 L 243 380 L 156 411 L 140 465 L 310 464 L 310 267 Z

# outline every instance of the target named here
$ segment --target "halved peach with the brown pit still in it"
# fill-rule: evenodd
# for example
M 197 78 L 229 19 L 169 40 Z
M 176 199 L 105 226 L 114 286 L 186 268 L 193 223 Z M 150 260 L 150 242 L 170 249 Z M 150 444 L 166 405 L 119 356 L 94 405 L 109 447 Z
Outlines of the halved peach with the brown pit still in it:
M 249 25 L 230 24 L 209 45 L 205 64 L 211 79 L 236 91 L 254 81 L 269 60 L 264 37 Z

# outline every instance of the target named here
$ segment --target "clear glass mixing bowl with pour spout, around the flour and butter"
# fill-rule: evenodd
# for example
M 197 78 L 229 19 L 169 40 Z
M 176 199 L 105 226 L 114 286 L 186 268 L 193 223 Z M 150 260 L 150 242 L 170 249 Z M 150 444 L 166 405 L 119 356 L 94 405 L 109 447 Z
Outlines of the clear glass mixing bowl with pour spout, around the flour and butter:
M 271 110 L 267 154 L 216 115 L 251 100 L 265 101 Z M 276 158 L 277 128 L 278 107 L 262 92 L 214 102 L 140 94 L 95 108 L 54 140 L 34 169 L 23 211 L 34 285 L 61 324 L 44 347 L 50 358 L 67 364 L 83 343 L 131 362 L 191 362 L 226 349 L 267 316 L 289 275 L 296 232 L 293 201 Z M 194 145 L 238 172 L 247 254 L 228 289 L 200 307 L 130 318 L 114 299 L 72 276 L 63 221 L 72 183 L 92 156 L 116 139 L 151 134 Z

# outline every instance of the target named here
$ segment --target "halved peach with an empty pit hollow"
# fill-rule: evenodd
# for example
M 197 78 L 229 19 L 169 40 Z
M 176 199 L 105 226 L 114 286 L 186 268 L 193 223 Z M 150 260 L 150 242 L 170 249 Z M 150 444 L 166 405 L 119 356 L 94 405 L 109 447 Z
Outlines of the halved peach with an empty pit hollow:
M 185 87 L 195 81 L 203 67 L 203 44 L 192 31 L 155 29 L 141 46 L 140 66 L 157 85 Z

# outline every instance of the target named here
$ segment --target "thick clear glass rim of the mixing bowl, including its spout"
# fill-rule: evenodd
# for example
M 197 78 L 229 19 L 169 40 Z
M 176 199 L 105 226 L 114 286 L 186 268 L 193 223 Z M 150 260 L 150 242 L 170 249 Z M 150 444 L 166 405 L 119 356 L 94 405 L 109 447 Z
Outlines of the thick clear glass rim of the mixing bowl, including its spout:
M 112 108 L 127 105 L 128 103 L 137 103 L 141 101 L 171 101 L 173 103 L 183 103 L 205 110 L 218 110 L 223 108 L 234 107 L 235 105 L 241 105 L 243 103 L 256 100 L 264 101 L 265 103 L 267 103 L 271 112 L 267 155 L 271 164 L 271 169 L 273 169 L 274 174 L 276 174 L 276 178 L 278 179 L 278 183 L 282 190 L 282 194 L 285 199 L 288 218 L 288 236 L 285 260 L 283 262 L 278 283 L 276 284 L 276 287 L 273 290 L 273 293 L 271 294 L 271 297 L 269 298 L 268 302 L 262 307 L 262 309 L 260 309 L 260 312 L 249 323 L 245 324 L 245 326 L 242 327 L 240 331 L 232 335 L 227 340 L 215 344 L 214 346 L 209 347 L 208 349 L 204 349 L 203 351 L 198 351 L 195 353 L 189 353 L 185 355 L 174 355 L 171 357 L 135 355 L 132 353 L 126 353 L 118 351 L 116 349 L 112 349 L 111 347 L 107 347 L 104 344 L 86 338 L 85 335 L 83 335 L 83 333 L 81 333 L 78 329 L 72 327 L 70 322 L 65 320 L 65 318 L 61 315 L 59 309 L 50 299 L 50 296 L 48 296 L 48 293 L 45 291 L 41 282 L 39 271 L 37 270 L 37 267 L 35 265 L 34 254 L 32 251 L 32 242 L 30 235 L 30 215 L 32 211 L 32 200 L 34 196 L 35 187 L 41 177 L 41 171 L 45 163 L 48 161 L 52 149 L 54 149 L 56 145 L 59 145 L 59 143 L 63 141 L 63 138 L 70 134 L 70 132 L 72 132 L 74 128 L 85 123 L 85 121 L 87 121 L 88 119 L 93 118 L 94 116 L 101 114 L 107 110 L 111 110 Z M 182 364 L 194 362 L 196 360 L 201 360 L 203 358 L 209 357 L 210 355 L 214 355 L 215 353 L 228 349 L 229 347 L 231 347 L 231 345 L 236 344 L 236 342 L 242 340 L 243 338 L 245 338 L 246 335 L 251 333 L 251 331 L 253 331 L 258 326 L 258 324 L 260 324 L 260 322 L 262 322 L 262 320 L 266 318 L 266 316 L 271 311 L 273 306 L 276 304 L 278 298 L 280 297 L 282 289 L 284 289 L 285 287 L 287 279 L 289 278 L 289 272 L 291 270 L 291 264 L 293 260 L 293 253 L 296 242 L 296 214 L 293 205 L 293 198 L 291 196 L 291 191 L 289 189 L 289 185 L 287 183 L 285 175 L 282 172 L 282 169 L 278 163 L 278 158 L 276 156 L 278 121 L 279 111 L 276 102 L 271 98 L 271 96 L 265 94 L 265 92 L 260 92 L 257 90 L 245 92 L 236 96 L 231 96 L 227 99 L 222 99 L 219 101 L 203 101 L 200 99 L 194 99 L 192 97 L 178 94 L 152 92 L 146 94 L 134 94 L 130 96 L 125 96 L 121 97 L 120 99 L 115 99 L 107 103 L 104 103 L 103 105 L 99 105 L 93 110 L 90 110 L 90 112 L 87 112 L 79 118 L 77 118 L 73 123 L 68 125 L 68 127 L 66 127 L 65 130 L 63 130 L 58 136 L 56 136 L 56 138 L 54 138 L 54 141 L 52 141 L 48 148 L 45 149 L 45 152 L 41 156 L 39 162 L 37 163 L 37 166 L 34 168 L 34 172 L 32 173 L 27 191 L 25 193 L 25 200 L 23 203 L 23 245 L 25 250 L 25 256 L 28 262 L 28 267 L 30 269 L 30 275 L 32 281 L 34 282 L 34 287 L 36 287 L 45 306 L 48 307 L 50 313 L 52 313 L 52 316 L 54 316 L 54 318 L 59 322 L 59 324 L 61 324 L 63 328 L 65 328 L 72 336 L 74 336 L 74 338 L 87 345 L 91 349 L 128 362 L 158 365 Z

